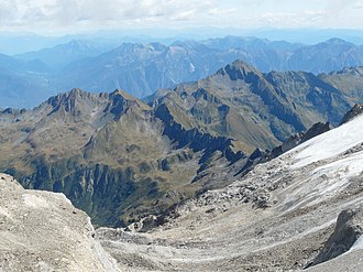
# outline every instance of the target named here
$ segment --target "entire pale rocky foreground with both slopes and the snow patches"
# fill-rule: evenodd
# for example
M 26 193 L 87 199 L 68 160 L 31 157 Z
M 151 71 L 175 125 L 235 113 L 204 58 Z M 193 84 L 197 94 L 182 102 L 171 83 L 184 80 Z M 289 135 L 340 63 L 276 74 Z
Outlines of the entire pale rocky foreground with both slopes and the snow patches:
M 63 194 L 0 174 L 0 268 L 359 272 L 362 111 L 356 105 L 338 128 L 125 228 L 95 231 Z

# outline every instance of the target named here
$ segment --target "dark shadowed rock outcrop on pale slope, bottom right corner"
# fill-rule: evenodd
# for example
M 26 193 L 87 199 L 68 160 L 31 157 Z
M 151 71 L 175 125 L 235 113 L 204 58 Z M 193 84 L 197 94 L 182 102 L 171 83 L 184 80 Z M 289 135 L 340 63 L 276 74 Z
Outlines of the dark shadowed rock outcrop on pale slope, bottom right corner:
M 363 209 L 346 209 L 340 213 L 331 235 L 312 265 L 329 261 L 351 249 L 363 233 Z

